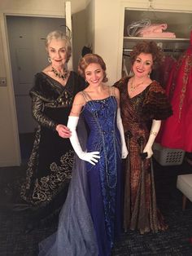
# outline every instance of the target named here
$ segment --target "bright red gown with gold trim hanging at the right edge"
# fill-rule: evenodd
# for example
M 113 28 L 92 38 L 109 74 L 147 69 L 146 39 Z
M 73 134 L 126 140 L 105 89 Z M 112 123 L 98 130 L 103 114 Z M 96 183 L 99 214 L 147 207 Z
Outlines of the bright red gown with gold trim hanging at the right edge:
M 192 31 L 190 46 L 172 67 L 166 93 L 173 115 L 162 124 L 156 141 L 167 148 L 192 152 Z

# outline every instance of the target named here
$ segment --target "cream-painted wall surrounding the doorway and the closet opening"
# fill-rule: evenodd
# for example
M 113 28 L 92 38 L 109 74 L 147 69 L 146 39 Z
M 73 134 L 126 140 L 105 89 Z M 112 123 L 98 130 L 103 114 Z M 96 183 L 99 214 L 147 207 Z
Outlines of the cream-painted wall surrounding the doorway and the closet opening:
M 72 13 L 86 9 L 86 42 L 107 64 L 109 83 L 120 78 L 123 48 L 124 7 L 147 8 L 149 0 L 72 0 Z M 7 49 L 4 13 L 63 16 L 63 0 L 4 0 L 0 2 L 0 77 L 7 77 L 7 87 L 0 87 L 0 166 L 20 165 L 15 102 Z M 191 0 L 154 0 L 159 10 L 192 11 Z M 78 19 L 77 19 L 78 20 Z M 75 24 L 73 24 L 75 25 Z M 81 37 L 81 35 L 79 35 Z M 80 46 L 79 46 L 80 47 Z M 78 58 L 78 57 L 77 57 Z

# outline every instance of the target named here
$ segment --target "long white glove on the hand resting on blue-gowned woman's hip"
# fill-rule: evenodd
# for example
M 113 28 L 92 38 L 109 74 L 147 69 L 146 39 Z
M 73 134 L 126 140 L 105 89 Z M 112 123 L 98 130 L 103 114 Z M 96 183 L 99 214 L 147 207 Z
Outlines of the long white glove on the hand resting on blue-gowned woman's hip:
M 76 152 L 76 155 L 84 161 L 89 161 L 92 165 L 98 162 L 99 152 L 84 152 L 82 151 L 79 139 L 76 134 L 76 126 L 79 121 L 79 117 L 68 117 L 68 128 L 71 130 L 72 135 L 69 138 L 72 143 L 72 148 Z

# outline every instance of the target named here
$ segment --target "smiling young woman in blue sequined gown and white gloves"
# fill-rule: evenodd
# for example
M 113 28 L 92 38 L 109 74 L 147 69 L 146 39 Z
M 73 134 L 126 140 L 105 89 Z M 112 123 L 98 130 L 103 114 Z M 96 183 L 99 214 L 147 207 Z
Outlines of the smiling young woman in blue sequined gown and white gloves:
M 76 152 L 72 182 L 58 231 L 41 242 L 39 255 L 110 256 L 120 235 L 121 158 L 128 152 L 119 90 L 104 85 L 105 70 L 98 55 L 80 61 L 79 72 L 89 86 L 76 95 L 68 118 Z

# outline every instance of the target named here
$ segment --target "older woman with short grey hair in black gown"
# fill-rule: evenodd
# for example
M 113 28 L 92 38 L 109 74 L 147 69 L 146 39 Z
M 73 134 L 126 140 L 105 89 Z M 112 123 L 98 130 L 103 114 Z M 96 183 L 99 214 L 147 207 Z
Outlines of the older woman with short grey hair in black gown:
M 36 74 L 30 90 L 38 128 L 20 192 L 36 220 L 58 212 L 63 205 L 74 155 L 66 125 L 74 96 L 85 88 L 85 81 L 67 68 L 72 50 L 66 35 L 49 33 L 46 51 L 50 64 Z

